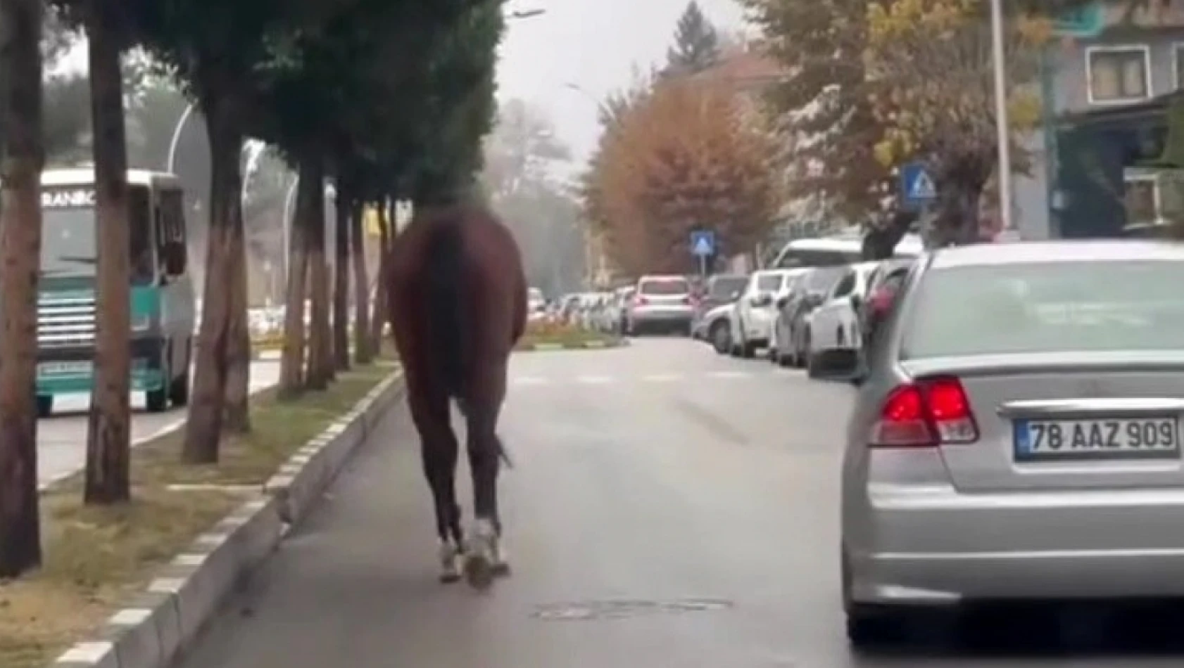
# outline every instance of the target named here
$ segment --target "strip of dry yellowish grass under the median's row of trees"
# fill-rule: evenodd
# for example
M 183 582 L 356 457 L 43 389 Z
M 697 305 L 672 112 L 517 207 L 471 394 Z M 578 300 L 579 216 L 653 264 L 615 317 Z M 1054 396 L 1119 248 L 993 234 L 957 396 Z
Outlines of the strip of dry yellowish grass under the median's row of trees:
M 292 453 L 394 369 L 386 361 L 356 368 L 292 402 L 276 401 L 270 389 L 256 394 L 253 432 L 226 439 L 217 466 L 180 463 L 184 429 L 142 443 L 131 452 L 133 501 L 124 506 L 84 507 L 81 473 L 43 492 L 44 565 L 0 583 L 0 667 L 44 668 L 102 628 L 159 566 L 258 494 Z M 194 484 L 201 487 L 170 489 Z

